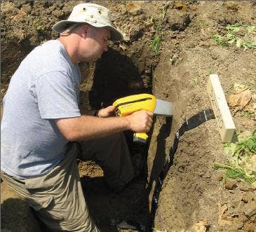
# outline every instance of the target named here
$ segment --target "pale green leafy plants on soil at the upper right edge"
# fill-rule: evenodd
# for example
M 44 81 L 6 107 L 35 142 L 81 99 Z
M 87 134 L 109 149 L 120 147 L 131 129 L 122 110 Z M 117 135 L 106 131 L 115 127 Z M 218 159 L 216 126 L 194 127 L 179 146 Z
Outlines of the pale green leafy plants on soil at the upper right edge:
M 226 34 L 220 36 L 213 34 L 212 38 L 218 45 L 228 47 L 235 44 L 238 48 L 247 50 L 248 48 L 256 48 L 256 27 L 252 25 L 243 25 L 236 23 L 226 27 Z

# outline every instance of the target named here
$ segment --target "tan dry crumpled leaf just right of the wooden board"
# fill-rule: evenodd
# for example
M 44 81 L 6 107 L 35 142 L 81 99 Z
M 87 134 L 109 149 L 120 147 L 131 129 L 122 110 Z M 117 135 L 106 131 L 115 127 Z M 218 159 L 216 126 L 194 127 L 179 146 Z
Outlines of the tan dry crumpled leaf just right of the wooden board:
M 230 95 L 228 102 L 230 107 L 236 107 L 237 110 L 241 110 L 251 99 L 252 93 L 250 90 L 243 90 L 241 93 Z

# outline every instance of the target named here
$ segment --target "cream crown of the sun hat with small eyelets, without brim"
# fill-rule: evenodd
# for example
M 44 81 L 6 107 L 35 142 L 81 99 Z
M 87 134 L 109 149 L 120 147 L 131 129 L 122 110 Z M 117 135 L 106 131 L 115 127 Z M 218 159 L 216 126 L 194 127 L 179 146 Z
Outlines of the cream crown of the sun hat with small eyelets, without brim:
M 98 22 L 103 25 L 112 25 L 110 11 L 97 4 L 79 4 L 74 6 L 68 20 Z

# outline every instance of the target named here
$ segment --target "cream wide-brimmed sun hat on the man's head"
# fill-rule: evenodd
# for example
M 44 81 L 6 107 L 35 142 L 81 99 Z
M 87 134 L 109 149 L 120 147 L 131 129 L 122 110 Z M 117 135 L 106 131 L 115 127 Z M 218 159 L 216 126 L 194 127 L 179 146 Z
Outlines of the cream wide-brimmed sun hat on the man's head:
M 67 20 L 61 20 L 53 25 L 53 30 L 60 34 L 67 33 L 76 23 L 88 23 L 93 27 L 107 27 L 111 32 L 112 41 L 123 40 L 123 33 L 112 25 L 111 13 L 108 8 L 97 4 L 79 4 L 74 6 Z M 67 25 L 71 25 L 67 28 Z

